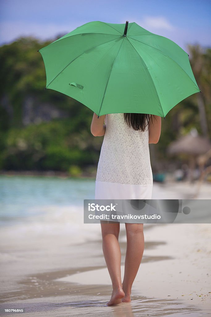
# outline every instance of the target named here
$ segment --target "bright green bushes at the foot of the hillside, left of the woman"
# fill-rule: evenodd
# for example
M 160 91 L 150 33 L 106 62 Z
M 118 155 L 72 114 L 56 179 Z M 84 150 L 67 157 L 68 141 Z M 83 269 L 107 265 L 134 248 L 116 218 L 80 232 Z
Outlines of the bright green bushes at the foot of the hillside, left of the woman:
M 52 120 L 21 129 L 10 128 L 5 135 L 4 150 L 0 153 L 2 168 L 69 171 L 74 164 L 81 167 L 93 164 L 96 161 L 94 149 L 88 140 L 85 146 L 80 142 L 83 133 L 74 135 L 75 129 L 73 119 Z M 89 138 L 91 136 L 87 135 Z

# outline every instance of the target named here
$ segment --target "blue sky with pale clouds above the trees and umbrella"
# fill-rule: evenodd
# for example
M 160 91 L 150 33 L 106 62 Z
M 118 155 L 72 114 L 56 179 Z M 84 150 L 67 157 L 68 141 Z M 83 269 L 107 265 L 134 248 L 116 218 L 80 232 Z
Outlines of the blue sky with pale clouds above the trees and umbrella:
M 0 45 L 20 36 L 40 40 L 91 21 L 135 22 L 189 53 L 187 44 L 211 47 L 211 0 L 0 0 Z

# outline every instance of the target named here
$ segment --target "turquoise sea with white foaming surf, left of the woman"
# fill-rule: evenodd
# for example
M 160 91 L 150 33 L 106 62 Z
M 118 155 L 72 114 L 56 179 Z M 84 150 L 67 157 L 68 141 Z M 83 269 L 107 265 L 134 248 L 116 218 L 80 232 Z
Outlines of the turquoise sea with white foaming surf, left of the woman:
M 95 240 L 100 225 L 84 224 L 84 199 L 94 193 L 94 179 L 0 176 L 0 262 L 19 258 L 19 249 L 25 257 L 32 246 L 49 250 Z

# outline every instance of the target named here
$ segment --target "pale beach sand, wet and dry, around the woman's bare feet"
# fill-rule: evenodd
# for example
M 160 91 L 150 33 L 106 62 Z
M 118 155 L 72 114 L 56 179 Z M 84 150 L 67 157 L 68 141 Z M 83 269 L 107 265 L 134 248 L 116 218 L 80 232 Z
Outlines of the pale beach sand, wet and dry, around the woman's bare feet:
M 96 241 L 67 243 L 65 247 L 63 239 L 58 241 L 58 236 L 52 236 L 51 243 L 57 240 L 56 257 L 51 250 L 41 252 L 41 244 L 37 244 L 30 259 L 11 260 L 7 267 L 2 266 L 0 307 L 25 308 L 25 316 L 209 316 L 211 225 L 144 224 L 144 236 L 145 250 L 131 303 L 106 306 L 112 288 L 100 235 Z M 37 242 L 41 243 L 42 238 Z M 20 241 L 21 237 L 16 237 L 13 248 Z M 26 245 L 27 240 L 25 245 L 22 240 L 22 248 Z M 124 224 L 120 245 L 123 270 Z

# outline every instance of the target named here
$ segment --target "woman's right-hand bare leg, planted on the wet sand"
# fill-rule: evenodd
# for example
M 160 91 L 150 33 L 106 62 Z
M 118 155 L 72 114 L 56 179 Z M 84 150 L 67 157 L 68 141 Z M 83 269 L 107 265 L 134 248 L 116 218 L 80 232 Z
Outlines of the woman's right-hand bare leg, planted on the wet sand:
M 127 233 L 127 251 L 122 288 L 125 293 L 122 302 L 130 302 L 131 288 L 138 272 L 144 252 L 143 223 L 125 223 Z

